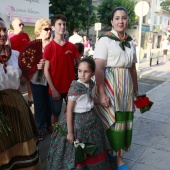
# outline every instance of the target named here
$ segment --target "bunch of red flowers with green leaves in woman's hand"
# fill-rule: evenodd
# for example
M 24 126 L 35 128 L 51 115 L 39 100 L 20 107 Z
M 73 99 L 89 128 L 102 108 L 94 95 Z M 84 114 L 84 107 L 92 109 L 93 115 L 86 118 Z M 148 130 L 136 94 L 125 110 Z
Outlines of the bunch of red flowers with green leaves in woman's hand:
M 136 108 L 140 109 L 141 113 L 149 111 L 153 105 L 153 102 L 149 100 L 146 94 L 138 95 L 134 101 Z

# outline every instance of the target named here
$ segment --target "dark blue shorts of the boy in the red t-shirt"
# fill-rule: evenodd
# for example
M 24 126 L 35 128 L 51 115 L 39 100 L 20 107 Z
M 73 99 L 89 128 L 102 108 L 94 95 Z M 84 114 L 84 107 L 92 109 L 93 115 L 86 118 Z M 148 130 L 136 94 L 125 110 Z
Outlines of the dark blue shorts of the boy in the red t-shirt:
M 52 96 L 50 96 L 52 114 L 56 117 L 60 116 L 62 104 L 63 104 L 63 99 L 65 100 L 65 102 L 67 104 L 67 93 L 61 93 L 60 94 L 60 100 L 54 100 L 52 98 Z

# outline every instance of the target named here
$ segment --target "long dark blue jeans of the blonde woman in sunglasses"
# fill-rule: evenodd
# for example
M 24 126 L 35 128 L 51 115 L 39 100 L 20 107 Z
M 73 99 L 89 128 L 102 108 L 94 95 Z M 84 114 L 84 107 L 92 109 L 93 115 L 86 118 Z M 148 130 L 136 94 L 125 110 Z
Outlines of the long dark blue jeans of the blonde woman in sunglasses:
M 39 133 L 43 133 L 47 127 L 51 127 L 51 105 L 48 94 L 48 86 L 31 83 L 34 100 L 34 115 Z

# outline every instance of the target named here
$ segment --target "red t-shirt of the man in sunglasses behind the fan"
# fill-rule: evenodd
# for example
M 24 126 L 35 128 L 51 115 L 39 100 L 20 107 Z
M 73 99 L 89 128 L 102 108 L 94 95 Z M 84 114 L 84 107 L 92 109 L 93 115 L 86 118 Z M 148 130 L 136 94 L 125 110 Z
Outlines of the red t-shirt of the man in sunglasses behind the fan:
M 20 34 L 11 33 L 9 39 L 12 49 L 19 52 L 21 52 L 22 48 L 30 41 L 28 34 L 25 32 L 21 32 Z

